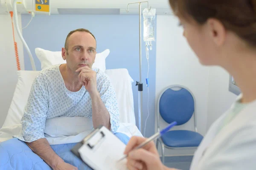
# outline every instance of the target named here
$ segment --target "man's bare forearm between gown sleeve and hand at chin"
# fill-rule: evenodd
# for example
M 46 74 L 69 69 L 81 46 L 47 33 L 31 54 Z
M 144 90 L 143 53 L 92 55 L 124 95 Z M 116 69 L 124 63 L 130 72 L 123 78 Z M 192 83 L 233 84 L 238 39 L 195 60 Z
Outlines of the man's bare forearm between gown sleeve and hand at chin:
M 93 127 L 103 125 L 111 130 L 110 115 L 105 104 L 102 102 L 99 92 L 90 95 L 92 99 Z

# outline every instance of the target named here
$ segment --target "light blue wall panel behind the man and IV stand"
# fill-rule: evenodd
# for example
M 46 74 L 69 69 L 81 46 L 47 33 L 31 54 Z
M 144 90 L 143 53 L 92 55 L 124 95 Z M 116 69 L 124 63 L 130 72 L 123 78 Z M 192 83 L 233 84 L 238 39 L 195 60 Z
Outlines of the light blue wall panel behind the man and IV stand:
M 30 15 L 22 15 L 22 26 L 26 26 Z M 77 28 L 90 30 L 97 40 L 97 52 L 106 48 L 110 54 L 106 59 L 106 68 L 127 68 L 134 79 L 134 109 L 138 126 L 138 91 L 135 86 L 139 81 L 139 17 L 137 15 L 36 15 L 30 25 L 23 29 L 23 37 L 26 40 L 35 60 L 37 70 L 41 70 L 41 64 L 35 56 L 35 48 L 44 48 L 50 51 L 61 51 L 67 34 Z M 143 24 L 143 23 L 142 23 Z M 143 25 L 142 25 L 143 28 Z M 142 30 L 143 33 L 143 30 Z M 142 34 L 143 35 L 143 34 Z M 143 38 L 143 36 L 142 36 Z M 142 40 L 143 42 L 143 40 Z M 147 60 L 145 57 L 145 43 L 142 44 L 142 81 L 143 81 L 143 131 L 147 113 Z M 156 72 L 156 44 L 150 51 L 149 71 L 149 111 L 145 136 L 154 133 L 155 111 L 155 72 Z M 24 49 L 25 70 L 32 70 L 29 56 Z M 143 132 L 144 133 L 144 132 Z

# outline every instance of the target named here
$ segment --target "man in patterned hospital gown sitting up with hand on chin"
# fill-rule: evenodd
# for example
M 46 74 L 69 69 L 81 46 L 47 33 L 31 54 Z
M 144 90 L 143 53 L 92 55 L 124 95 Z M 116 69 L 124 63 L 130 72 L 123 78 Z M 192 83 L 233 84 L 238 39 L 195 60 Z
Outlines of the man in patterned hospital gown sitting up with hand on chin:
M 119 127 L 116 94 L 108 76 L 92 69 L 96 39 L 77 29 L 67 35 L 62 57 L 67 64 L 44 69 L 33 82 L 17 137 L 54 170 L 76 169 L 59 157 L 44 136 L 46 119 L 65 116 L 92 118 L 93 127 L 104 125 L 113 133 Z M 74 122 L 75 123 L 75 122 Z

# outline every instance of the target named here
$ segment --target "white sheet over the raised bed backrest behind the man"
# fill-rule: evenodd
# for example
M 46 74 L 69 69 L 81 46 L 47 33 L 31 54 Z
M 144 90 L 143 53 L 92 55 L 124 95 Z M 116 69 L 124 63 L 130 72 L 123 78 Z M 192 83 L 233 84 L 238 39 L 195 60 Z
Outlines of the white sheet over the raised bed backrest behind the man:
M 20 130 L 20 119 L 29 96 L 33 80 L 39 71 L 18 71 L 18 82 L 3 127 L 0 129 L 0 142 L 11 139 Z M 105 73 L 110 77 L 116 91 L 119 107 L 120 127 L 117 132 L 129 137 L 142 136 L 136 126 L 134 115 L 134 100 L 131 83 L 133 79 L 125 68 L 109 69 Z

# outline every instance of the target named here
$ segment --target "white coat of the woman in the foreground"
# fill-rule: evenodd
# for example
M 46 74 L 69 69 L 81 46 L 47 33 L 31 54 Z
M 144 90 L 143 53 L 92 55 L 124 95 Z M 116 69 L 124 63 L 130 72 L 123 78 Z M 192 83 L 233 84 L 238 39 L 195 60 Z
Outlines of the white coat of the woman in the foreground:
M 195 152 L 190 170 L 256 170 L 256 101 L 245 106 L 218 132 L 229 112 L 209 128 Z

